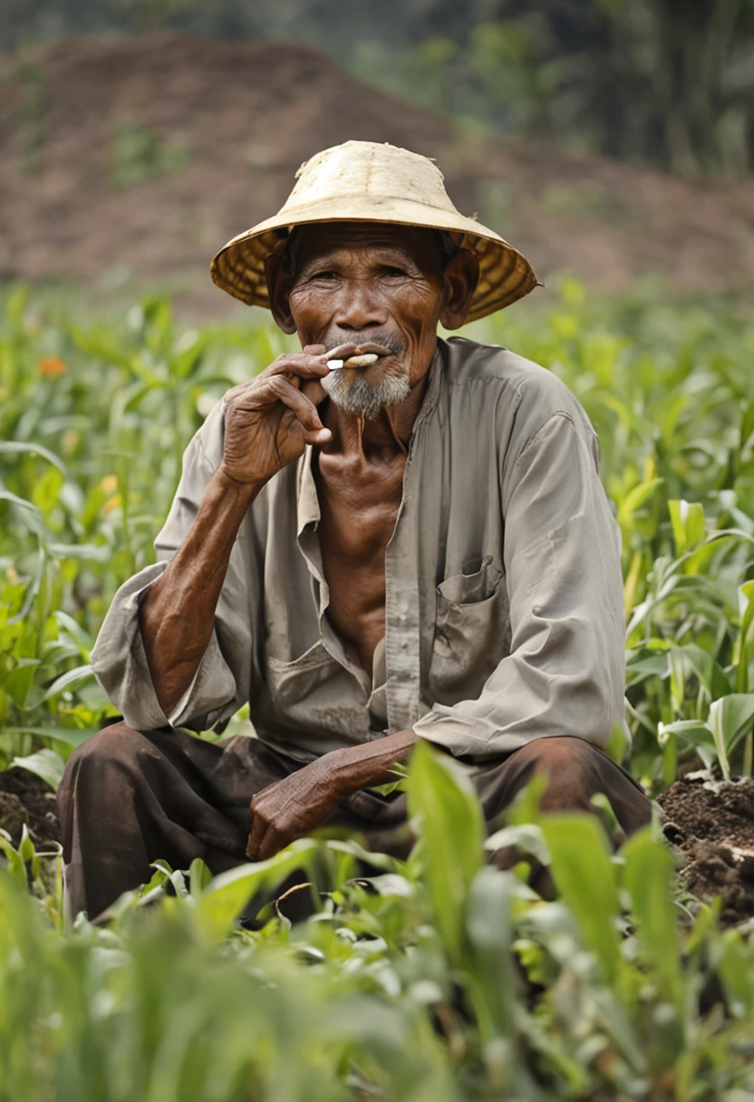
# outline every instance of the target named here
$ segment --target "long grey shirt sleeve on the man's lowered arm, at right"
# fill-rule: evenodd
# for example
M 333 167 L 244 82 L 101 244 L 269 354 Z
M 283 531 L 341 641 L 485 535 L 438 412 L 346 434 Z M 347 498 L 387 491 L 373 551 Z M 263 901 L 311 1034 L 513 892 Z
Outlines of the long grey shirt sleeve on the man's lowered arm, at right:
M 413 726 L 452 754 L 488 758 L 534 738 L 606 747 L 624 727 L 621 544 L 591 429 L 557 412 L 502 473 L 510 653 L 481 695 Z

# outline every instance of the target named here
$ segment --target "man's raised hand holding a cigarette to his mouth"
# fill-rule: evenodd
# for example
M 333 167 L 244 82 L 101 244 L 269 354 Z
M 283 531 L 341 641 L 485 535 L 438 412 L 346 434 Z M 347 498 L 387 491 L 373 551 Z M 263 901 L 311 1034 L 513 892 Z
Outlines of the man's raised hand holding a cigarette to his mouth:
M 332 433 L 316 411 L 330 374 L 327 359 L 353 356 L 358 346 L 306 345 L 303 352 L 278 356 L 261 375 L 234 387 L 225 404 L 225 454 L 220 471 L 241 485 L 263 485 L 306 444 L 326 444 Z

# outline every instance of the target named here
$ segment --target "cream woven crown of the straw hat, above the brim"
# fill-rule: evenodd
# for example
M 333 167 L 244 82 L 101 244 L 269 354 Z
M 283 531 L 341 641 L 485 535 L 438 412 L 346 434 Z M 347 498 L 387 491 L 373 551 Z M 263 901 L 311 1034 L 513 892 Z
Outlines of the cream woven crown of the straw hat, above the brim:
M 412 199 L 457 213 L 440 169 L 429 158 L 387 143 L 347 141 L 304 161 L 280 214 L 346 195 Z

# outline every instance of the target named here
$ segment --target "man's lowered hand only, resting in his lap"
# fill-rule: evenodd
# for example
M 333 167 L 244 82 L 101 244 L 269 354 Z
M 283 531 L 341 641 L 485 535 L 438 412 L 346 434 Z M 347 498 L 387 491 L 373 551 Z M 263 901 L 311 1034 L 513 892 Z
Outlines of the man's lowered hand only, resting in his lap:
M 274 856 L 333 818 L 344 793 L 322 768 L 326 757 L 257 792 L 250 804 L 251 833 L 246 845 L 250 861 Z

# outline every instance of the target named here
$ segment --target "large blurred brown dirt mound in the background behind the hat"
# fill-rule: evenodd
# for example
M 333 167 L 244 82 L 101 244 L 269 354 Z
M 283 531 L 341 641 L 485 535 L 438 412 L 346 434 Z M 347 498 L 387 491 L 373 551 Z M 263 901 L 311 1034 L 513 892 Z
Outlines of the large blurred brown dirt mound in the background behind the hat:
M 688 182 L 562 150 L 472 141 L 446 119 L 360 84 L 303 47 L 177 33 L 82 39 L 6 58 L 0 85 L 0 273 L 91 280 L 114 266 L 179 277 L 186 305 L 230 300 L 207 274 L 231 235 L 274 212 L 316 150 L 349 138 L 438 158 L 541 278 L 601 288 L 647 272 L 680 289 L 754 282 L 754 187 Z M 36 106 L 35 106 L 36 105 Z M 114 184 L 123 123 L 188 148 L 188 163 Z

